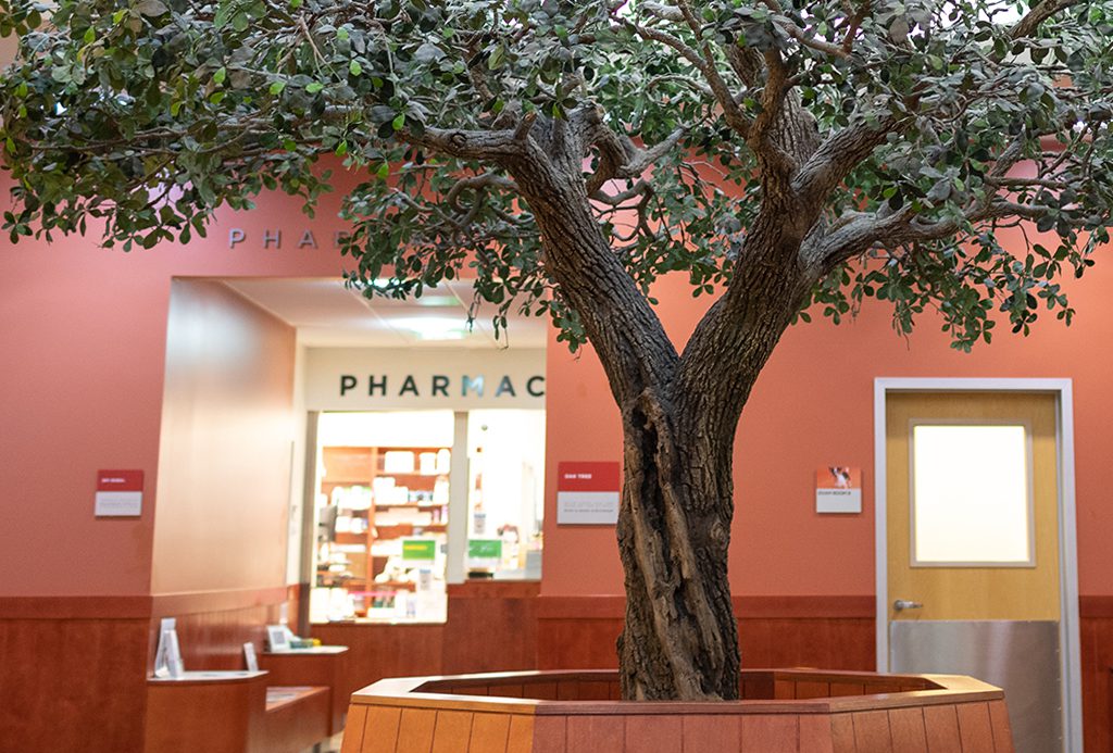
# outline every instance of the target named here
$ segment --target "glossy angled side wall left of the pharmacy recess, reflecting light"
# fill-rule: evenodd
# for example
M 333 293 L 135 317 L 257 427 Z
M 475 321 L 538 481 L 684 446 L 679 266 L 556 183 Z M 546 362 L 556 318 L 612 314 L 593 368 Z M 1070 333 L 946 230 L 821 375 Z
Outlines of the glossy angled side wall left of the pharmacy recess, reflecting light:
M 155 594 L 285 583 L 294 357 L 294 328 L 227 286 L 173 283 Z

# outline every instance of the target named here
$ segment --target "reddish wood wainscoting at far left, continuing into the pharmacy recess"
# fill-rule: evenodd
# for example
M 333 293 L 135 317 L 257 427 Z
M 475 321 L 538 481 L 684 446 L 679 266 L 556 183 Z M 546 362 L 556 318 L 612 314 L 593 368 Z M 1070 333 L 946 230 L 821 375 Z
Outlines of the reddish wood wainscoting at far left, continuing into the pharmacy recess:
M 160 596 L 0 596 L 0 753 L 144 750 L 158 622 L 187 668 L 238 670 L 297 587 Z M 155 753 L 155 752 L 151 752 Z

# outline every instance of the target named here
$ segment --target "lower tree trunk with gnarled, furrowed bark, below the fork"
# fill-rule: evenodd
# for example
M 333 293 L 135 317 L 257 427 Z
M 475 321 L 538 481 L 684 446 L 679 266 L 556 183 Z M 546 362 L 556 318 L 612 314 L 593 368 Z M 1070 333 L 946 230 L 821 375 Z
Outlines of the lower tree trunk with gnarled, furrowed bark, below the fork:
M 731 442 L 706 440 L 649 390 L 623 410 L 619 554 L 622 697 L 737 698 L 738 626 L 727 578 Z M 681 433 L 681 436 L 678 436 Z

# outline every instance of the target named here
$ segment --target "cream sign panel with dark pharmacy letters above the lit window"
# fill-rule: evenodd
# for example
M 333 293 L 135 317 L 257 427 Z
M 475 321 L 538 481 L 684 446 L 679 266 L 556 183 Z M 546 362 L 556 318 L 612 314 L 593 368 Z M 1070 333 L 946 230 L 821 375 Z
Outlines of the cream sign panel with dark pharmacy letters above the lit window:
M 543 408 L 545 353 L 311 348 L 309 410 Z

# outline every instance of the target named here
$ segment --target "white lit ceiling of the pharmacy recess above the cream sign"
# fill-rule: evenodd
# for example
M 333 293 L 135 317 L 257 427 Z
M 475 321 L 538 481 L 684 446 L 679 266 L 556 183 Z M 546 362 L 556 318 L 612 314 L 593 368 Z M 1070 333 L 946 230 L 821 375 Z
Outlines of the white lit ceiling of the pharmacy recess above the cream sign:
M 543 348 L 548 317 L 508 315 L 494 337 L 493 306 L 481 308 L 471 326 L 472 284 L 442 283 L 421 298 L 368 300 L 331 278 L 225 278 L 229 288 L 297 328 L 309 347 Z

